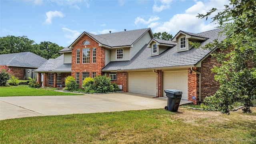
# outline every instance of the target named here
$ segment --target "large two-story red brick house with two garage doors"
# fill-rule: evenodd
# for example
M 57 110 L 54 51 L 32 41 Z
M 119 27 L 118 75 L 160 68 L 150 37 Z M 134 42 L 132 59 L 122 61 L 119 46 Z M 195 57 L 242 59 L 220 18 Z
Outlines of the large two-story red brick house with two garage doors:
M 62 64 L 71 58 L 69 72 L 80 87 L 88 76 L 107 74 L 112 82 L 122 85 L 124 92 L 165 96 L 164 90 L 177 89 L 182 90 L 183 100 L 199 104 L 219 88 L 210 70 L 217 62 L 210 50 L 192 48 L 188 42 L 204 46 L 226 38 L 218 32 L 220 29 L 199 34 L 180 31 L 171 41 L 154 38 L 150 28 L 100 35 L 83 32 L 61 50 Z M 57 71 L 40 68 L 36 71 L 51 75 L 48 80 L 57 80 Z M 44 86 L 53 86 L 54 82 Z

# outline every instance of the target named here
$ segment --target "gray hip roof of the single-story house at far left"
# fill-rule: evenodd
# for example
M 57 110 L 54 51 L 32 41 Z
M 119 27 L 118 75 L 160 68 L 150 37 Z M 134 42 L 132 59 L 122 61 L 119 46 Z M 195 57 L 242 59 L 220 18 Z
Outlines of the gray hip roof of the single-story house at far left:
M 47 59 L 32 52 L 19 52 L 13 54 L 0 54 L 0 65 L 38 68 Z

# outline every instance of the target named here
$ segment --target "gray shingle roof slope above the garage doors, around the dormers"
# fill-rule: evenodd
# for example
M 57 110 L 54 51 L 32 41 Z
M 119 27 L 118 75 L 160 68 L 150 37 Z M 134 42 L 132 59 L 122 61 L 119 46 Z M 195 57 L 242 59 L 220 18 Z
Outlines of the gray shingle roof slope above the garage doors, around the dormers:
M 202 46 L 215 39 L 223 40 L 226 36 L 218 37 L 218 32 L 221 29 L 202 32 L 200 35 L 209 39 L 202 42 Z M 191 48 L 188 51 L 177 52 L 177 46 L 169 48 L 158 56 L 151 56 L 151 49 L 146 48 L 146 45 L 130 60 L 110 62 L 102 70 L 142 70 L 150 68 L 170 68 L 176 66 L 192 66 L 202 60 L 210 50 Z

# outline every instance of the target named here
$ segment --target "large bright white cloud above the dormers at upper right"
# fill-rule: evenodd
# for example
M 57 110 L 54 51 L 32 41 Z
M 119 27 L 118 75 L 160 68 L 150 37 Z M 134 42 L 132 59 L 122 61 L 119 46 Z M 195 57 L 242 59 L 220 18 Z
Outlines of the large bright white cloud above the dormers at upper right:
M 206 2 L 198 1 L 193 6 L 185 10 L 183 14 L 175 14 L 167 22 L 161 22 L 158 27 L 153 29 L 153 32 L 168 32 L 170 34 L 176 34 L 179 30 L 184 30 L 188 32 L 204 32 L 207 30 L 212 30 L 216 28 L 214 22 L 210 23 L 210 18 L 208 21 L 205 19 L 200 19 L 198 13 L 206 14 L 213 7 L 218 9 L 223 9 L 225 4 L 228 4 L 228 0 L 210 0 Z M 216 15 L 212 14 L 213 16 Z M 149 26 L 155 26 L 155 23 L 149 24 Z

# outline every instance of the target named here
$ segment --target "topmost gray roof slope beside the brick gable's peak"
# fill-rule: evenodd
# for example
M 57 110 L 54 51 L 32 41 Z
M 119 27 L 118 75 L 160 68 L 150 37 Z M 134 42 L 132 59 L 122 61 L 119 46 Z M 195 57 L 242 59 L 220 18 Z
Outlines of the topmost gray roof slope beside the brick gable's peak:
M 143 34 L 148 32 L 148 30 L 151 31 L 150 28 L 143 28 L 139 30 L 129 30 L 129 31 L 123 31 L 123 32 L 113 32 L 108 34 L 99 34 L 94 35 L 89 32 L 85 32 L 92 38 L 94 38 L 96 41 L 98 41 L 100 44 L 110 46 L 110 47 L 116 47 L 116 46 L 130 46 L 136 42 Z

